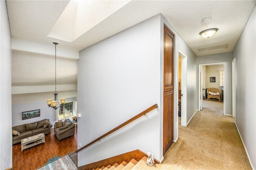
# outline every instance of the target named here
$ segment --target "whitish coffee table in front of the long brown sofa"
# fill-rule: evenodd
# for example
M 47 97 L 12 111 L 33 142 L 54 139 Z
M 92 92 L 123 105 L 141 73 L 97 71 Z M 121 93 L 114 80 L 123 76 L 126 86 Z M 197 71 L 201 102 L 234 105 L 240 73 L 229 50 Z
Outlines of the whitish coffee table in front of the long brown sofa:
M 40 143 L 45 143 L 44 139 L 45 135 L 44 133 L 40 133 L 38 135 L 31 136 L 31 139 L 22 139 L 21 140 L 21 151 L 24 149 L 28 149 L 30 147 L 33 147 L 35 145 L 38 145 Z

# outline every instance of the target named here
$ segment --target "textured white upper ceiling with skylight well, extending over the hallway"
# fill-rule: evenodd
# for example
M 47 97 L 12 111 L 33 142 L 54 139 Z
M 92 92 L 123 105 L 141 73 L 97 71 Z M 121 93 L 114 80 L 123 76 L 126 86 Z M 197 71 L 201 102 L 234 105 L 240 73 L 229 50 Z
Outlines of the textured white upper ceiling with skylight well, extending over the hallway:
M 60 0 L 7 0 L 12 37 L 48 45 L 59 39 L 59 47 L 80 51 L 161 13 L 197 56 L 226 53 L 233 51 L 255 6 L 254 0 L 94 0 L 87 1 L 90 5 L 84 5 L 93 10 L 81 10 L 82 7 L 76 2 L 71 1 L 69 4 L 69 1 Z M 67 6 L 72 8 L 66 8 Z M 92 16 L 92 20 L 82 20 L 82 15 Z M 206 17 L 212 17 L 211 22 L 202 24 L 202 19 Z M 84 23 L 88 27 L 84 27 Z M 199 35 L 200 31 L 211 27 L 219 29 L 213 37 L 206 39 Z M 198 51 L 224 44 L 228 44 L 228 48 Z

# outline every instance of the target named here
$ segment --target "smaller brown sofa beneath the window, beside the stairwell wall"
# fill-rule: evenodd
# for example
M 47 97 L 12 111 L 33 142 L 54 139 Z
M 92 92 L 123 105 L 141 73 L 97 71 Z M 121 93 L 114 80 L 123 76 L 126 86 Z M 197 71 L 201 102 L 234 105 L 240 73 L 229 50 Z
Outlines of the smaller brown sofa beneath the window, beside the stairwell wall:
M 54 123 L 54 133 L 58 140 L 75 134 L 75 124 L 70 119 Z

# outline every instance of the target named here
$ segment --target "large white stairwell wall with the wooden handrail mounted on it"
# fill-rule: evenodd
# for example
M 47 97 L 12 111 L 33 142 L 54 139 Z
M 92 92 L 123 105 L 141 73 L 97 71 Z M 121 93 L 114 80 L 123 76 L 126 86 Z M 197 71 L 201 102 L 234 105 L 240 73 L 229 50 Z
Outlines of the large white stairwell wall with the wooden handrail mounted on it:
M 148 107 L 160 106 L 160 15 L 82 51 L 78 61 L 78 142 L 82 146 Z M 161 107 L 161 106 L 160 106 Z M 78 153 L 78 166 L 140 149 L 160 160 L 154 109 Z

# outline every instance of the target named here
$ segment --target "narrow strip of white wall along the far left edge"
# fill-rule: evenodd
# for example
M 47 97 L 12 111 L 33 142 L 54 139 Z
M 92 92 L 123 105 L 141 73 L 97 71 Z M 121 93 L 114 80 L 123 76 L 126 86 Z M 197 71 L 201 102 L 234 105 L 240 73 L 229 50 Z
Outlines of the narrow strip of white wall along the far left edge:
M 0 169 L 12 167 L 12 51 L 6 1 L 0 1 Z

